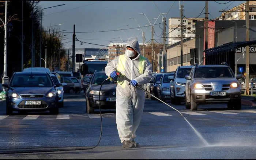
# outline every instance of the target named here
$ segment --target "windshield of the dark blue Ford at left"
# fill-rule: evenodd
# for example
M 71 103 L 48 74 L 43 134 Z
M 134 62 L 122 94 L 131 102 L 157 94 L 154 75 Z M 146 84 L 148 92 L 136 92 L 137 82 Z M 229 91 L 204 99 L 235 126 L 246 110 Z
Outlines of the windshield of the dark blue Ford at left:
M 52 79 L 49 75 L 14 75 L 11 87 L 51 87 Z

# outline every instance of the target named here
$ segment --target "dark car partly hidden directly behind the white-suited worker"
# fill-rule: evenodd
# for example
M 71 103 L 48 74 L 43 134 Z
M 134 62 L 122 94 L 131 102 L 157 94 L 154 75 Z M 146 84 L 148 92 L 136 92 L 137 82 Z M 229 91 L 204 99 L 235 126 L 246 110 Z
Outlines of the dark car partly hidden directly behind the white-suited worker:
M 105 71 L 94 72 L 86 91 L 86 111 L 94 113 L 94 109 L 116 109 L 116 86 L 114 81 L 106 80 L 101 88 L 99 101 L 99 88 L 102 82 L 107 79 Z

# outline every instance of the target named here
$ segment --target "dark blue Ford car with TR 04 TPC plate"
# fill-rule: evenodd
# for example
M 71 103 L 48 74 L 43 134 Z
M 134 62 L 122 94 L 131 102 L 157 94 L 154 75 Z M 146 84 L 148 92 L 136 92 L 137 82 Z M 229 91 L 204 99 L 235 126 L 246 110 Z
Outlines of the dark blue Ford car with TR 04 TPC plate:
M 48 72 L 15 72 L 9 85 L 3 84 L 7 88 L 6 115 L 12 115 L 13 111 L 59 114 L 57 87 L 60 86 L 60 83 L 54 85 Z

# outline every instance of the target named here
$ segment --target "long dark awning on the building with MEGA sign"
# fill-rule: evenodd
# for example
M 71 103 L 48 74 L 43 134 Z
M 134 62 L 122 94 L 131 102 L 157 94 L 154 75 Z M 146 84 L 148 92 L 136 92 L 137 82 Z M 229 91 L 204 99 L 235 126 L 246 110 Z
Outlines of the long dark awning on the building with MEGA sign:
M 206 55 L 215 55 L 217 53 L 223 53 L 223 52 L 233 52 L 236 48 L 245 47 L 247 45 L 253 45 L 256 44 L 256 40 L 254 41 L 243 41 L 243 42 L 232 42 L 228 44 L 223 44 L 218 47 L 209 48 L 204 50 Z

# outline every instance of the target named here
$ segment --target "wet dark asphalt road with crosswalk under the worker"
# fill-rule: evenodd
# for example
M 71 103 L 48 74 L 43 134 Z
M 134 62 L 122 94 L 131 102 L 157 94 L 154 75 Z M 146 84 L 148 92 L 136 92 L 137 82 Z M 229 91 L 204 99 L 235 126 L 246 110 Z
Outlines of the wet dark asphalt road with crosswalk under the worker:
M 169 101 L 167 101 L 170 104 Z M 34 112 L 5 116 L 0 101 L 0 159 L 255 159 L 256 108 L 243 105 L 229 111 L 225 104 L 199 105 L 198 111 L 172 105 L 180 111 L 209 145 L 174 109 L 146 99 L 136 141 L 140 148 L 123 149 L 114 110 L 88 115 L 83 96 L 64 99 L 59 115 Z M 8 149 L 8 150 L 7 150 Z M 45 152 L 49 149 L 84 149 Z M 10 152 L 36 152 L 11 154 Z M 10 153 L 10 154 L 8 154 Z

